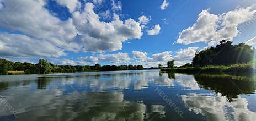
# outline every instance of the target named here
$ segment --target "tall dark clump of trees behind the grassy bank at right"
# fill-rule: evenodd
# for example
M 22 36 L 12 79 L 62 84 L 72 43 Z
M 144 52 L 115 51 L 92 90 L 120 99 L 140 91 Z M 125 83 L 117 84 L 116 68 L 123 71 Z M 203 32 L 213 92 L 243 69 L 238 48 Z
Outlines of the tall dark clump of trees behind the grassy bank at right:
M 195 53 L 192 65 L 204 67 L 206 65 L 231 65 L 248 63 L 254 58 L 255 48 L 245 43 L 232 45 L 232 41 L 222 40 L 216 47 Z

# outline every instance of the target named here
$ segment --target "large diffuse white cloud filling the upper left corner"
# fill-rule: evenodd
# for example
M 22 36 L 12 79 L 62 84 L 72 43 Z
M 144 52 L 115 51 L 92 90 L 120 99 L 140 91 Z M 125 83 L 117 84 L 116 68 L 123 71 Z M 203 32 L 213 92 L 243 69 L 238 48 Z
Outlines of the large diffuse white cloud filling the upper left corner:
M 51 46 L 49 46 L 51 48 L 47 48 L 50 50 L 61 50 L 62 52 L 62 54 L 55 51 L 52 52 L 51 56 L 55 57 L 65 55 L 62 50 L 73 52 L 79 51 L 79 44 L 72 41 L 74 37 L 76 37 L 76 27 L 73 25 L 73 20 L 71 18 L 67 21 L 61 21 L 60 19 L 52 16 L 44 8 L 44 5 L 46 5 L 44 1 L 3 0 L 2 2 L 4 3 L 5 8 L 0 10 L 0 18 L 4 18 L 0 23 L 0 27 L 9 31 L 19 31 L 23 35 L 26 35 L 26 37 L 23 36 L 20 38 L 17 37 L 21 36 L 20 34 L 12 34 L 10 36 L 7 36 L 7 34 L 2 35 L 7 37 L 5 38 L 6 40 L 8 39 L 13 42 L 12 47 L 30 50 L 29 47 L 37 46 L 39 43 L 42 47 L 47 46 L 46 43 L 51 43 Z M 16 40 L 12 39 L 14 36 L 16 37 Z M 24 38 L 25 40 L 30 40 L 30 42 L 23 41 Z M 0 38 L 0 40 L 3 40 L 3 38 Z M 9 45 L 9 41 L 2 41 L 2 43 L 4 43 L 4 45 Z M 19 44 L 15 43 L 15 41 L 19 41 Z M 19 54 L 23 50 L 17 50 L 17 53 L 10 53 L 13 52 L 10 51 L 9 54 Z M 43 53 L 46 52 L 45 48 L 39 47 L 36 48 L 36 51 L 40 52 L 34 53 L 38 56 L 49 55 L 49 53 Z M 20 53 L 20 55 L 22 54 L 23 53 Z

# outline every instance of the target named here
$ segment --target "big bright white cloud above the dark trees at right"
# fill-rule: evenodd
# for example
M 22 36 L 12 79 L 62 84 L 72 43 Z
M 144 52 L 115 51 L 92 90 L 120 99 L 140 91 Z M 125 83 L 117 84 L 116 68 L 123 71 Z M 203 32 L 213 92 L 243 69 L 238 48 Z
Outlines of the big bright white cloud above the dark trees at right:
M 252 20 L 255 6 L 238 8 L 220 15 L 210 14 L 210 9 L 202 10 L 196 23 L 180 32 L 177 43 L 206 42 L 209 46 L 215 45 L 221 39 L 230 39 L 238 35 L 238 25 Z

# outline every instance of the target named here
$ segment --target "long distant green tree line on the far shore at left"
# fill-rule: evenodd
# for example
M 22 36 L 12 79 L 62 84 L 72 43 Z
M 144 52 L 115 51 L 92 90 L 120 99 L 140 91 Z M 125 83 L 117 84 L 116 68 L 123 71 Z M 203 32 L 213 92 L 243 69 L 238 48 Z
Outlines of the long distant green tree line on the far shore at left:
M 0 58 L 0 75 L 7 75 L 8 70 L 24 71 L 25 74 L 46 74 L 46 73 L 70 73 L 70 72 L 88 72 L 88 71 L 115 71 L 115 70 L 143 70 L 142 65 L 54 65 L 46 59 L 39 59 L 36 64 L 28 62 L 12 62 Z

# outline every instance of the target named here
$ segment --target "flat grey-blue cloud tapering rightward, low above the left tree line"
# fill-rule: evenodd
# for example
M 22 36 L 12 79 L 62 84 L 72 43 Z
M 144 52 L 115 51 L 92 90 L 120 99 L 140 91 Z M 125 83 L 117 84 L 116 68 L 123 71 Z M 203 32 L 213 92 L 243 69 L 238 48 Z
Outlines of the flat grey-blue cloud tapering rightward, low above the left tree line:
M 26 35 L 2 33 L 0 34 L 0 55 L 60 57 L 66 56 L 66 53 L 45 40 L 36 40 Z

